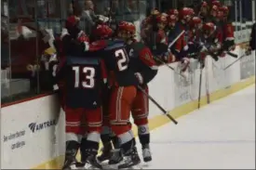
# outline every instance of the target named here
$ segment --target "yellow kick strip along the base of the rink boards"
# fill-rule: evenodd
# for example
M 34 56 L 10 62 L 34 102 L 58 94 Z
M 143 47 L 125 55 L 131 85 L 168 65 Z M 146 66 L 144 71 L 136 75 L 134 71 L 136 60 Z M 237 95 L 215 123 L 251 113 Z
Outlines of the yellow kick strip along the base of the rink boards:
M 226 86 L 221 90 L 217 90 L 211 93 L 209 95 L 210 102 L 213 102 L 220 98 L 227 97 L 253 84 L 255 84 L 255 76 L 251 76 L 246 80 L 236 83 L 235 85 Z M 207 98 L 206 97 L 201 98 L 201 106 L 203 107 L 207 104 L 208 104 Z M 197 100 L 183 104 L 182 106 L 179 106 L 173 109 L 172 111 L 169 111 L 169 114 L 171 114 L 174 118 L 179 118 L 195 110 L 197 110 Z M 154 130 L 155 128 L 168 123 L 169 123 L 169 120 L 166 115 L 157 115 L 149 120 L 150 130 Z M 137 137 L 138 135 L 137 127 L 133 126 L 133 131 L 135 133 L 135 136 Z M 51 161 L 48 161 L 47 163 L 41 163 L 33 167 L 32 169 L 60 169 L 62 163 L 63 163 L 63 156 L 61 155 Z

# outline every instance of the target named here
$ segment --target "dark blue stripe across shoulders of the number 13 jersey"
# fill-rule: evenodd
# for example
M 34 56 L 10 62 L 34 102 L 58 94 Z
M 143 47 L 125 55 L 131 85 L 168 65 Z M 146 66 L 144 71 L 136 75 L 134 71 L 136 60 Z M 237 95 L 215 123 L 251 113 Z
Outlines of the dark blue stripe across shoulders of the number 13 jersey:
M 68 63 L 68 65 L 73 65 L 73 64 L 97 65 L 97 64 L 99 64 L 99 59 L 68 56 L 67 57 L 67 63 Z

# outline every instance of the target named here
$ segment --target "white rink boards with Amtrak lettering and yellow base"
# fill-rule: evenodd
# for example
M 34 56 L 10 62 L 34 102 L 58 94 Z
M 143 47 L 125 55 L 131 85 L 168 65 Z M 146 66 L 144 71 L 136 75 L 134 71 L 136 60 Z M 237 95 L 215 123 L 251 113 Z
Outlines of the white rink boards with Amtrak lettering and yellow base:
M 242 56 L 243 53 L 237 46 L 236 54 Z M 254 55 L 240 59 L 226 71 L 222 69 L 236 59 L 227 57 L 215 62 L 208 57 L 202 72 L 201 106 L 253 84 Z M 179 71 L 178 64 L 170 65 Z M 191 61 L 185 75 L 186 80 L 162 66 L 149 85 L 150 95 L 175 118 L 197 109 L 200 70 L 196 60 Z M 54 95 L 2 108 L 1 118 L 5 120 L 1 124 L 2 169 L 60 168 L 65 146 L 65 118 Z M 167 123 L 168 118 L 150 103 L 150 129 Z M 136 130 L 134 132 L 137 134 Z

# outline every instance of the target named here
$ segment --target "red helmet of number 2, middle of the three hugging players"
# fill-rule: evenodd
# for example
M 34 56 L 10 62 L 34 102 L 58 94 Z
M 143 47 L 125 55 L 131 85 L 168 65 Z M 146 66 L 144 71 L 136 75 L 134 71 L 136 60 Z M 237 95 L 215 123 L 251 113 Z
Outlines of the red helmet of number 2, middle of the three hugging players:
M 112 36 L 113 30 L 107 25 L 99 24 L 97 28 L 92 31 L 92 33 L 99 39 L 105 39 Z

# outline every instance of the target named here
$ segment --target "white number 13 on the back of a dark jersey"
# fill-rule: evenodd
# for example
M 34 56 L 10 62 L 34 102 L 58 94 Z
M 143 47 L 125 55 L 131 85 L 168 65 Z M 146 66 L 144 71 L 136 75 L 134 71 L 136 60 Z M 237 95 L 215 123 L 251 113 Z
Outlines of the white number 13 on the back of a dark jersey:
M 81 85 L 84 88 L 93 88 L 95 85 L 95 69 L 92 67 L 82 67 L 83 69 L 83 78 L 84 80 L 80 80 L 80 67 L 79 66 L 74 66 L 73 68 L 74 71 L 74 87 L 79 88 Z

